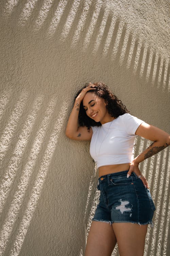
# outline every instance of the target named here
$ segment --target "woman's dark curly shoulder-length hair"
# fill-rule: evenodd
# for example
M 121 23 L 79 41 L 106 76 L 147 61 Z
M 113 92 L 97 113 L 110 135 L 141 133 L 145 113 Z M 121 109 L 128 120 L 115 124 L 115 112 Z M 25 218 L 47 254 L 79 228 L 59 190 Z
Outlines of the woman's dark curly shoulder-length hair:
M 90 83 L 86 84 L 83 88 L 85 88 L 89 84 Z M 104 99 L 105 103 L 107 103 L 106 109 L 108 110 L 109 115 L 117 118 L 120 115 L 129 113 L 129 110 L 126 109 L 126 106 L 122 104 L 121 100 L 119 100 L 116 95 L 111 92 L 111 90 L 109 90 L 107 85 L 102 82 L 96 82 L 93 85 L 95 85 L 96 90 L 89 90 L 88 92 L 93 92 L 97 96 Z M 75 99 L 80 94 L 82 89 L 78 91 Z M 83 108 L 83 101 L 80 104 L 78 121 L 80 126 L 87 126 L 88 129 L 90 129 L 91 126 L 101 126 L 100 122 L 95 122 L 95 120 L 87 116 L 86 111 Z

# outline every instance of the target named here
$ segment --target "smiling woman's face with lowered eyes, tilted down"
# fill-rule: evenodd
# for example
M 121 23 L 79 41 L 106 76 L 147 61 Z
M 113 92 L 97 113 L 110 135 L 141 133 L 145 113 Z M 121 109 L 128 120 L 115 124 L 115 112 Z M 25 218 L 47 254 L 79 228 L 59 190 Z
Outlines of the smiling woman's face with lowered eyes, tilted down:
M 111 117 L 106 109 L 104 99 L 93 92 L 87 92 L 84 96 L 83 108 L 91 119 L 94 119 L 95 122 L 101 122 L 101 124 L 108 122 L 106 119 Z

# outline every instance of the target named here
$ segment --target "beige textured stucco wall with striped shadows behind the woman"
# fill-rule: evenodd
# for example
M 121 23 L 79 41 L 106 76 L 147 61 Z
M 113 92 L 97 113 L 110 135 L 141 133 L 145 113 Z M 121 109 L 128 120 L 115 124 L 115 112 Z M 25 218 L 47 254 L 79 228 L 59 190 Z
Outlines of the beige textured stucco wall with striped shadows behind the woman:
M 0 255 L 83 256 L 98 172 L 89 142 L 65 136 L 75 92 L 103 81 L 131 114 L 170 132 L 169 3 L 0 5 Z M 137 138 L 135 154 L 149 143 Z M 170 254 L 169 159 L 167 148 L 140 165 L 156 205 L 145 256 Z

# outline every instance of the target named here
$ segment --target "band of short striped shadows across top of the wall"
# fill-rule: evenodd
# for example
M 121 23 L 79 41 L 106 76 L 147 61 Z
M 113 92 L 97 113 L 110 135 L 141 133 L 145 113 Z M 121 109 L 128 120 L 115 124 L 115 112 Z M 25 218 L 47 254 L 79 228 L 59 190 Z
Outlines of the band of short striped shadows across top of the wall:
M 84 3 L 49 1 L 48 4 L 47 1 L 39 4 L 38 1 L 11 0 L 4 2 L 3 17 L 15 20 L 19 29 L 28 29 L 35 38 L 36 35 L 48 41 L 57 38 L 56 43 L 60 44 L 69 39 L 70 49 L 81 48 L 89 56 L 100 54 L 102 62 L 111 59 L 148 84 L 170 91 L 168 58 L 150 49 L 140 35 L 134 35 L 127 24 L 105 10 L 100 1 L 94 6 L 91 0 Z

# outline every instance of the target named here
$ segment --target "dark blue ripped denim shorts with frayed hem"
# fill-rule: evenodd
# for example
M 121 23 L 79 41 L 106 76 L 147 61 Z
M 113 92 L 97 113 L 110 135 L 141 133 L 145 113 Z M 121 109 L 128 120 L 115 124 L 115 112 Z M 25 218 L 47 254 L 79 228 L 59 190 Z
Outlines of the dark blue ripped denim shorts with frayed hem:
M 155 211 L 150 191 L 141 179 L 128 170 L 103 175 L 98 179 L 99 203 L 92 221 L 151 224 Z

